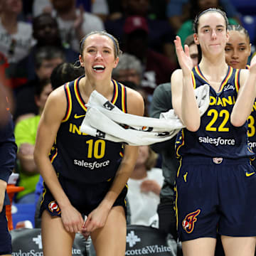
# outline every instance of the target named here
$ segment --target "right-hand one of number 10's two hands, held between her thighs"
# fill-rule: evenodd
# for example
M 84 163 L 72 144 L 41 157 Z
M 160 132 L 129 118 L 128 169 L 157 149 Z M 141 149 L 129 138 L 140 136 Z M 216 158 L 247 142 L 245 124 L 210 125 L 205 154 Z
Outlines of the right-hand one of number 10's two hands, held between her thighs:
M 92 210 L 85 221 L 85 225 L 82 227 L 82 233 L 91 233 L 97 228 L 104 227 L 108 214 L 109 210 L 102 206 L 98 206 L 95 210 Z

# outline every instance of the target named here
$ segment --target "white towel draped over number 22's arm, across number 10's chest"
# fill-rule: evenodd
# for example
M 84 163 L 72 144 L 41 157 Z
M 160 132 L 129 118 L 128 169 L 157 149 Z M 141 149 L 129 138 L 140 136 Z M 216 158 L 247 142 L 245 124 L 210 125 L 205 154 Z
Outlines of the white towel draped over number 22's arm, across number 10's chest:
M 209 86 L 202 85 L 195 90 L 201 116 L 209 105 Z M 96 90 L 90 95 L 87 113 L 80 132 L 112 142 L 129 145 L 150 145 L 174 137 L 184 127 L 174 110 L 161 113 L 160 118 L 139 117 L 119 110 Z

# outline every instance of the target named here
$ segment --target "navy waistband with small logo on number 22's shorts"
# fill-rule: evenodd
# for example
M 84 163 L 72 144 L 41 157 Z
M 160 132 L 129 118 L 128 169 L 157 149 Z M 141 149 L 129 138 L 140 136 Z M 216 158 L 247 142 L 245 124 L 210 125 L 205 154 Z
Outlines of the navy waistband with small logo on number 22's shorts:
M 250 164 L 249 157 L 240 159 L 226 159 L 223 157 L 210 157 L 210 156 L 182 156 L 182 163 L 193 164 Z

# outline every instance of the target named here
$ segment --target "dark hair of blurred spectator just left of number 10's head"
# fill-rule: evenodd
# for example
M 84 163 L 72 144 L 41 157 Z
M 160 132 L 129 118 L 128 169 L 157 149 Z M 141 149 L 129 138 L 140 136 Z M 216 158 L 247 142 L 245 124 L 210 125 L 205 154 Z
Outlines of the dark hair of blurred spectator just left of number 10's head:
M 54 46 L 42 46 L 36 50 L 35 53 L 35 67 L 36 69 L 41 68 L 43 60 L 53 60 L 55 58 L 61 58 L 65 60 L 65 54 L 63 50 L 60 50 Z

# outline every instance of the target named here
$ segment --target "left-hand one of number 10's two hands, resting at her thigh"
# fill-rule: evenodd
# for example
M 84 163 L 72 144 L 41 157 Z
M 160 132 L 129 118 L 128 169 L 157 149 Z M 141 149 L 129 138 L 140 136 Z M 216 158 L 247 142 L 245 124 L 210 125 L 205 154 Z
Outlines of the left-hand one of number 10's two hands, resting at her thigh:
M 65 230 L 68 232 L 78 233 L 78 231 L 82 231 L 82 224 L 84 222 L 82 215 L 71 204 L 61 209 L 61 219 Z

